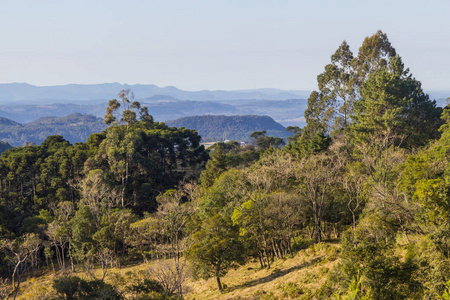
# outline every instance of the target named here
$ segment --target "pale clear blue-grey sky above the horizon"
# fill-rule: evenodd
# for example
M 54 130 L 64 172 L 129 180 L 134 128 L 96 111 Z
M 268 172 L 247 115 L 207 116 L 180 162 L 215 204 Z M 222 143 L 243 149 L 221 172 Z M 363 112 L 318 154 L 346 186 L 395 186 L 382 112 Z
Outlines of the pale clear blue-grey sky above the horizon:
M 0 83 L 313 90 L 343 40 L 388 35 L 450 90 L 450 0 L 0 0 Z

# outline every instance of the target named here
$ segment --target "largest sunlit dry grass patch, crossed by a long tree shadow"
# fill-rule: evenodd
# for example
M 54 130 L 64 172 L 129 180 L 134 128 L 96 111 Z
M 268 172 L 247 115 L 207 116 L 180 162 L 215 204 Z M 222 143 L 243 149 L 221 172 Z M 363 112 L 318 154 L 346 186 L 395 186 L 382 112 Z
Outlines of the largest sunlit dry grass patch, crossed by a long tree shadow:
M 186 299 L 283 299 L 282 287 L 289 282 L 303 290 L 315 291 L 337 263 L 338 245 L 319 244 L 301 250 L 292 258 L 273 262 L 271 269 L 260 269 L 250 262 L 231 270 L 222 278 L 227 288 L 220 294 L 214 278 L 188 282 Z

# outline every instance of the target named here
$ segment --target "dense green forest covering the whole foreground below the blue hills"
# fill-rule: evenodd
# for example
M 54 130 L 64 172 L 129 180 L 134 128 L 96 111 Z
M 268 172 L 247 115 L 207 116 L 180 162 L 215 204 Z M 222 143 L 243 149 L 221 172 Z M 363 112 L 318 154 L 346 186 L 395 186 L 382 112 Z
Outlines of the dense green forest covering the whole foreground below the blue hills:
M 227 293 L 232 268 L 333 241 L 335 267 L 296 298 L 449 299 L 449 110 L 381 31 L 356 55 L 344 41 L 317 81 L 282 148 L 255 132 L 208 153 L 122 91 L 86 143 L 4 152 L 0 297 L 181 299 L 187 276 Z M 110 275 L 149 262 L 144 276 Z M 44 273 L 51 284 L 20 289 Z

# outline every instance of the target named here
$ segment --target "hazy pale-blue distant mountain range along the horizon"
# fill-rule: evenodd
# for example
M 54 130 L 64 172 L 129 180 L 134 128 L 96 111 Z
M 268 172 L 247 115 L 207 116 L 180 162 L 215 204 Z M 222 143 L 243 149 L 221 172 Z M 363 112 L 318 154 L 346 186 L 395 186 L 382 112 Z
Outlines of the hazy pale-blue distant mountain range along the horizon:
M 130 89 L 157 121 L 198 115 L 268 115 L 283 126 L 304 126 L 303 113 L 309 91 L 253 89 L 236 91 L 184 91 L 176 87 L 120 83 L 34 86 L 0 84 L 0 117 L 29 123 L 40 117 L 63 117 L 72 113 L 103 117 L 108 100 Z M 438 106 L 445 106 L 450 92 L 430 93 Z

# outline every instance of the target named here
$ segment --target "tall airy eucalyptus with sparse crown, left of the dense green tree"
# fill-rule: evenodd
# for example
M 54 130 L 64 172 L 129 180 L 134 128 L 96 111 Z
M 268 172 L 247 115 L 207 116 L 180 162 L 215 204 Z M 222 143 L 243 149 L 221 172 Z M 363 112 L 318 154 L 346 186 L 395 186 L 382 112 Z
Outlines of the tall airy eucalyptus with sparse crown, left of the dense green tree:
M 382 31 L 366 37 L 356 57 L 343 41 L 330 64 L 317 76 L 318 91 L 308 99 L 304 134 L 312 137 L 318 132 L 330 134 L 348 128 L 353 123 L 353 105 L 359 99 L 361 86 L 369 74 L 386 66 L 395 54 Z

